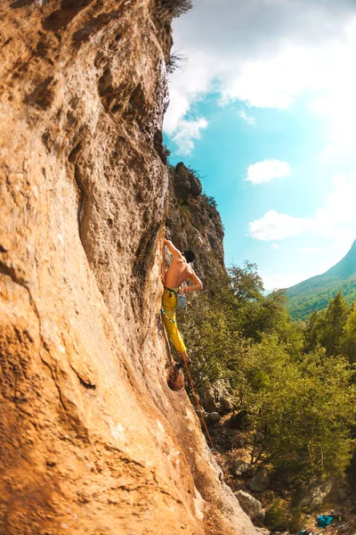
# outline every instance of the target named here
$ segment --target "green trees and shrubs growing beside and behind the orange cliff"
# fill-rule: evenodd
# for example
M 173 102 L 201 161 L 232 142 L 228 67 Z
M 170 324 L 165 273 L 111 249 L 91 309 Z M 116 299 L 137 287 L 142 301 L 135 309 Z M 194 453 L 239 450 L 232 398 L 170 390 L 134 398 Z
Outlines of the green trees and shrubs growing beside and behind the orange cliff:
M 198 221 L 195 210 L 197 199 L 206 210 L 208 202 L 201 193 L 180 198 L 177 169 L 171 172 L 169 228 L 184 248 L 197 243 L 197 232 L 206 232 L 206 214 Z M 198 270 L 211 261 L 212 252 L 206 251 L 200 251 Z M 246 261 L 226 273 L 216 259 L 218 268 L 210 271 L 205 290 L 191 298 L 178 320 L 192 359 L 190 372 L 234 485 L 261 500 L 270 529 L 295 532 L 306 514 L 325 498 L 334 499 L 330 489 L 349 491 L 356 308 L 338 293 L 327 309 L 296 323 L 287 311 L 286 292 L 263 294 L 254 264 Z M 245 473 L 236 473 L 237 462 L 247 465 Z M 263 477 L 267 486 L 254 492 L 250 481 Z

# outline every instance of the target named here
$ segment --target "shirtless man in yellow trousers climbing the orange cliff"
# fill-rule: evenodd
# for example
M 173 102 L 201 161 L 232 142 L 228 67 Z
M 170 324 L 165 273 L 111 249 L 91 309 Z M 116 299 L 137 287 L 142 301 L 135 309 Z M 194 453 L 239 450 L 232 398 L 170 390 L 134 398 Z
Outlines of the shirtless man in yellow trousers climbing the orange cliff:
M 175 349 L 181 354 L 182 361 L 176 364 L 177 368 L 182 367 L 184 362 L 190 362 L 187 355 L 187 348 L 182 341 L 181 333 L 178 331 L 175 320 L 175 309 L 177 307 L 177 293 L 196 292 L 201 290 L 203 284 L 194 273 L 189 263 L 195 258 L 194 252 L 187 250 L 184 252 L 178 251 L 174 244 L 169 240 L 165 240 L 165 245 L 173 254 L 172 264 L 168 268 L 165 276 L 165 292 L 162 297 L 163 321 L 166 325 L 166 331 L 170 339 L 174 343 Z M 181 284 L 189 280 L 193 283 L 190 286 L 182 286 Z

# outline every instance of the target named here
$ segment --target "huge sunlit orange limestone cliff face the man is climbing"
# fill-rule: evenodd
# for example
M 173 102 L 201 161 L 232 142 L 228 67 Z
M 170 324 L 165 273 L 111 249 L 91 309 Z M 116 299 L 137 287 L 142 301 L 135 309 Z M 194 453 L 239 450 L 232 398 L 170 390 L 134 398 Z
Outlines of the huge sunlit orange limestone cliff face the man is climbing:
M 255 532 L 159 319 L 167 0 L 0 4 L 0 533 Z

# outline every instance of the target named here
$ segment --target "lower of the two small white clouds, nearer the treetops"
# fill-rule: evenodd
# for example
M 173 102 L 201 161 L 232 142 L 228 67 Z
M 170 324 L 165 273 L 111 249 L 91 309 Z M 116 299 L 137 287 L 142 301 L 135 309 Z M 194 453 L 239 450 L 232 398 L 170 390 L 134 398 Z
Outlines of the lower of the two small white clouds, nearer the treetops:
M 271 242 L 300 235 L 311 227 L 311 218 L 294 218 L 287 214 L 279 214 L 276 210 L 268 210 L 263 218 L 249 223 L 249 235 L 256 240 Z

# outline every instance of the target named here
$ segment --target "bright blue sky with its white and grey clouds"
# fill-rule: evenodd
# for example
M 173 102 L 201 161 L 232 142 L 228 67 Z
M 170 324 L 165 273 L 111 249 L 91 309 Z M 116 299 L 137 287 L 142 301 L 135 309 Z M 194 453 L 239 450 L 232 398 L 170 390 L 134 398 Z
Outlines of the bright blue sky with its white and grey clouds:
M 193 0 L 172 50 L 170 163 L 214 196 L 226 266 L 325 272 L 356 239 L 355 1 Z

